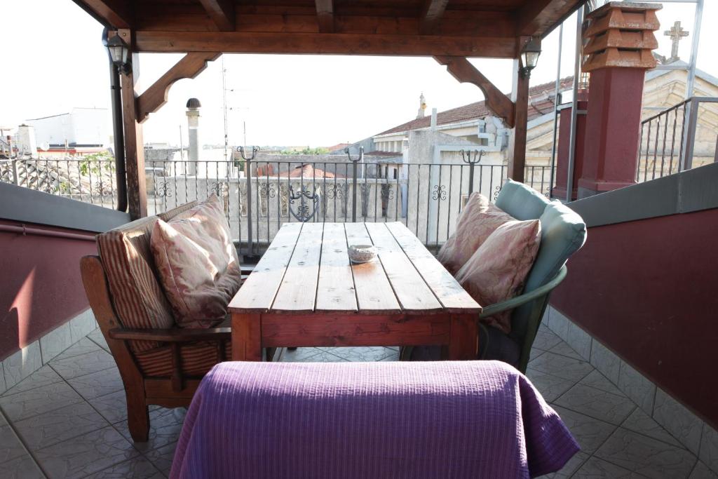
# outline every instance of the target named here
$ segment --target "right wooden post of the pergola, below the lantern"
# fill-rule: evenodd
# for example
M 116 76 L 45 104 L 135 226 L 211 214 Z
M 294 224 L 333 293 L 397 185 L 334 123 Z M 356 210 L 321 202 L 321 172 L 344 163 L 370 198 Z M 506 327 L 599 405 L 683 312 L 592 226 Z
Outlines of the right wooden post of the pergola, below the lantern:
M 508 177 L 523 182 L 526 167 L 526 122 L 528 121 L 528 77 L 521 74 L 521 61 L 513 60 L 513 131 L 508 145 Z

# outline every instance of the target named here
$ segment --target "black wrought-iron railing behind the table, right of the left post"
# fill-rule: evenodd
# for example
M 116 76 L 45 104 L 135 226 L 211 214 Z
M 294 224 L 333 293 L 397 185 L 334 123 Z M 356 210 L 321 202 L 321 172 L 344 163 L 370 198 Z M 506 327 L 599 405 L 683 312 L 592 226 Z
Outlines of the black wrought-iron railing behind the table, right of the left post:
M 503 164 L 373 164 L 235 161 L 147 162 L 149 214 L 215 193 L 223 203 L 241 253 L 260 254 L 284 223 L 297 222 L 295 192 L 317 192 L 312 222 L 401 221 L 427 246 L 454 231 L 472 191 L 495 200 Z M 356 172 L 355 168 L 356 167 Z M 550 167 L 526 167 L 526 183 L 544 194 Z

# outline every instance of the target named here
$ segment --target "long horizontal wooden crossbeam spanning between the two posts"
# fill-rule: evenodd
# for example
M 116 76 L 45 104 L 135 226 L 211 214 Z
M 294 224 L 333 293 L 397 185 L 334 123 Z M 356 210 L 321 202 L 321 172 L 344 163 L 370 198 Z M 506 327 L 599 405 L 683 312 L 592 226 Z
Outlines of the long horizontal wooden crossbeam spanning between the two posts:
M 139 52 L 288 53 L 515 58 L 515 37 L 435 35 L 136 32 Z

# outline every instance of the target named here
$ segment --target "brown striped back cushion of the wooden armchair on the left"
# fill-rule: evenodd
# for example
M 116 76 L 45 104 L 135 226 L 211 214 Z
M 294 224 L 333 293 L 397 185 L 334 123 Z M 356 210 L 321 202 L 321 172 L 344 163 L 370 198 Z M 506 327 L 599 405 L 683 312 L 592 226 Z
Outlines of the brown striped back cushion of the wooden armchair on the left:
M 141 218 L 98 235 L 115 310 L 124 327 L 174 327 L 174 317 L 154 274 L 149 236 L 156 217 Z M 132 341 L 135 352 L 157 348 L 157 341 Z

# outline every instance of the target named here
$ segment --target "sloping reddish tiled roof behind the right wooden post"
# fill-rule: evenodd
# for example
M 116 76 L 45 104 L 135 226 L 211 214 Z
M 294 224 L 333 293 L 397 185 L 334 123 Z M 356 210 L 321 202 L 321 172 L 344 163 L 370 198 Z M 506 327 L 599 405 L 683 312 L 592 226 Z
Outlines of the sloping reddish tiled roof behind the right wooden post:
M 574 78 L 572 76 L 567 78 L 561 78 L 559 91 L 565 91 L 571 88 Z M 554 108 L 554 87 L 555 83 L 542 83 L 528 89 L 528 120 L 531 121 L 546 113 L 550 113 L 551 109 Z M 469 103 L 468 105 L 459 106 L 452 108 L 447 111 L 440 111 L 437 113 L 437 125 L 446 125 L 452 123 L 458 123 L 460 121 L 476 120 L 478 118 L 485 118 L 493 114 L 492 111 L 485 105 L 483 101 L 477 101 L 476 103 Z M 382 131 L 378 135 L 386 135 L 391 133 L 400 133 L 401 131 L 416 130 L 421 128 L 429 128 L 431 126 L 431 116 L 424 116 L 424 118 L 416 118 L 411 121 L 407 121 L 404 124 L 394 126 L 391 129 Z

